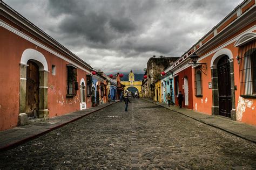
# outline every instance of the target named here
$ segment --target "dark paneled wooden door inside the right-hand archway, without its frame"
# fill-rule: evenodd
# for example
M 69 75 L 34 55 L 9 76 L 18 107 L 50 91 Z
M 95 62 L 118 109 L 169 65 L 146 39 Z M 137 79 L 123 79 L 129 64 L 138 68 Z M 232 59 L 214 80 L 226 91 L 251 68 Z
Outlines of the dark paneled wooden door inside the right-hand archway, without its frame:
M 228 56 L 223 56 L 218 62 L 218 87 L 219 87 L 219 115 L 231 117 L 232 97 L 230 62 Z

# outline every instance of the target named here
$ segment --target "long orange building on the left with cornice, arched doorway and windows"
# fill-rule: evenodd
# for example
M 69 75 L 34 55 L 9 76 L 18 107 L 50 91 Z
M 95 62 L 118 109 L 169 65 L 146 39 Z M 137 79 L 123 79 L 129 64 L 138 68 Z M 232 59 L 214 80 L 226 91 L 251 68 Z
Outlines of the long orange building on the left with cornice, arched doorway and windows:
M 111 80 L 2 1 L 0 35 L 0 131 L 92 107 L 95 80 L 106 101 Z

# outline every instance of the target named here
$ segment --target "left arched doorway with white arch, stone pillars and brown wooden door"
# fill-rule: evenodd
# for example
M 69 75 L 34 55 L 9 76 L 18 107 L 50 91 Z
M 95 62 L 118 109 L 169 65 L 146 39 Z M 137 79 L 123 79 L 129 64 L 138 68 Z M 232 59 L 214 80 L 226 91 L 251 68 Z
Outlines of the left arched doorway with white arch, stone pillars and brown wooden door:
M 35 49 L 25 49 L 19 63 L 19 116 L 18 125 L 28 124 L 28 119 L 49 118 L 48 63 Z

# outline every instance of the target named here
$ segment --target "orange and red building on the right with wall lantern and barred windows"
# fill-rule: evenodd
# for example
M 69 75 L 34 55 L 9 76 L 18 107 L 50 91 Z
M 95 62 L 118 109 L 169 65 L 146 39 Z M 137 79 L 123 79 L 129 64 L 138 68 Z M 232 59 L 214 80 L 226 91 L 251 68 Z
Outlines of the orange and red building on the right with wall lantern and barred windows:
M 165 70 L 184 107 L 256 125 L 255 16 L 255 1 L 242 2 Z

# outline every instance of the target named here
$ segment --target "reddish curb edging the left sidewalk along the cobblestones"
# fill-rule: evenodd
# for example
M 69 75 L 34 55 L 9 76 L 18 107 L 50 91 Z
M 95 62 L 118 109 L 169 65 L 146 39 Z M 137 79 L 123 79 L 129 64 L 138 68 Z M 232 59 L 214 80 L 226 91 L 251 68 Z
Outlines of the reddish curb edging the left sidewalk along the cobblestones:
M 45 130 L 45 131 L 43 131 L 43 132 L 39 132 L 39 133 L 33 134 L 33 135 L 31 135 L 31 136 L 29 136 L 29 137 L 27 137 L 27 138 L 24 138 L 24 139 L 15 141 L 14 143 L 10 143 L 10 144 L 4 145 L 4 146 L 0 146 L 0 151 L 9 150 L 10 148 L 16 147 L 17 145 L 20 145 L 20 144 L 22 144 L 22 143 L 25 143 L 26 141 L 35 139 L 35 138 L 37 138 L 37 137 L 39 137 L 39 136 L 42 136 L 43 134 L 48 133 L 48 132 L 50 132 L 50 131 L 52 131 L 52 130 L 61 128 L 62 126 L 66 125 L 66 124 L 69 124 L 69 123 L 71 123 L 71 122 L 75 122 L 75 121 L 77 121 L 78 119 L 81 119 L 81 118 L 83 118 L 83 117 L 85 117 L 85 116 L 88 116 L 88 115 L 92 114 L 93 112 L 96 112 L 96 111 L 102 110 L 102 109 L 104 109 L 104 108 L 106 108 L 106 107 L 109 107 L 110 105 L 115 104 L 115 103 L 117 103 L 117 102 L 119 102 L 119 101 L 110 103 L 110 104 L 108 104 L 108 105 L 105 105 L 105 106 L 102 107 L 102 108 L 98 108 L 97 110 L 93 110 L 93 111 L 91 111 L 91 112 L 88 112 L 88 113 L 85 114 L 85 115 L 82 115 L 82 116 L 76 117 L 76 118 L 74 118 L 74 119 L 71 119 L 71 120 L 68 121 L 68 122 L 59 124 L 59 125 L 57 125 L 57 126 L 55 126 L 55 127 L 49 128 L 48 130 Z M 76 113 L 76 112 L 71 112 L 71 113 Z M 66 114 L 65 114 L 65 115 L 66 115 Z M 63 115 L 62 115 L 62 116 L 63 116 Z

